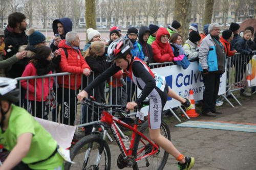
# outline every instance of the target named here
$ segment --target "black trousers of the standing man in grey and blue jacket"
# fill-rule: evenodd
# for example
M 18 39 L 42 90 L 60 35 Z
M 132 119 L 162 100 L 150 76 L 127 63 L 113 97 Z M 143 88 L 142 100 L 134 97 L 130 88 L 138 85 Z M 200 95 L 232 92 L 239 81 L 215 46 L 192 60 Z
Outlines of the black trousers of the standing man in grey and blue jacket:
M 203 106 L 202 114 L 208 112 L 216 112 L 216 101 L 220 87 L 221 74 L 209 72 L 208 77 L 203 77 L 204 93 L 203 93 Z

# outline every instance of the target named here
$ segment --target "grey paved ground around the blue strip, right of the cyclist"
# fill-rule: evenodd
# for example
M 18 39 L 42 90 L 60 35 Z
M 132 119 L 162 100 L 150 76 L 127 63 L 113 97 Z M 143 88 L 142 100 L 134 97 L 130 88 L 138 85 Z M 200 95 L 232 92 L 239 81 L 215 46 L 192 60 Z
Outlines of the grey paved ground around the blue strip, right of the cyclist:
M 217 107 L 223 114 L 217 117 L 198 116 L 191 120 L 210 120 L 232 123 L 256 124 L 256 94 L 244 97 L 236 94 L 242 106 L 230 99 L 235 106 L 227 102 Z M 200 105 L 196 105 L 200 114 Z M 188 119 L 180 117 L 183 122 Z M 203 128 L 175 127 L 180 124 L 174 117 L 165 117 L 170 128 L 171 140 L 175 147 L 185 156 L 195 157 L 193 169 L 234 170 L 256 169 L 256 134 L 249 132 L 214 130 Z M 110 143 L 111 169 L 118 169 L 117 157 L 120 154 L 115 142 Z M 131 168 L 124 168 L 131 169 Z M 177 161 L 169 155 L 164 169 L 178 169 Z

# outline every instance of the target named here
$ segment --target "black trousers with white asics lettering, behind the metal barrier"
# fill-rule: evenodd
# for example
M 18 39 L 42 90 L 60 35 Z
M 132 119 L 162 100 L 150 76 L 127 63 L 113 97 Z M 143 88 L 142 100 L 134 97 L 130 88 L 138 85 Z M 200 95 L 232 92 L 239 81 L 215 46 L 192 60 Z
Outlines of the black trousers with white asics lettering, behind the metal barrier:
M 70 96 L 69 96 L 68 88 L 63 88 L 63 94 L 62 94 L 62 87 L 58 88 L 57 102 L 58 102 L 58 105 L 60 105 L 61 107 L 60 109 L 61 124 L 72 125 L 72 126 L 74 125 L 75 109 L 76 109 L 76 103 L 77 103 L 76 94 L 78 94 L 78 90 L 70 89 Z M 62 98 L 63 98 L 63 103 L 62 103 Z

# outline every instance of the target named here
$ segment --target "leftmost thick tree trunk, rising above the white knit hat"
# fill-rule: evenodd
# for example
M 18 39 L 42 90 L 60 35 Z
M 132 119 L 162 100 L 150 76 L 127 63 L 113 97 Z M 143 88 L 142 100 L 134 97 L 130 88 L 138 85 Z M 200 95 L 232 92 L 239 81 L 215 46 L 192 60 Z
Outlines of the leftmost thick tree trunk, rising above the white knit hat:
M 95 0 L 85 0 L 86 1 L 86 28 L 96 29 L 96 3 Z M 88 42 L 88 37 L 86 36 L 86 42 Z

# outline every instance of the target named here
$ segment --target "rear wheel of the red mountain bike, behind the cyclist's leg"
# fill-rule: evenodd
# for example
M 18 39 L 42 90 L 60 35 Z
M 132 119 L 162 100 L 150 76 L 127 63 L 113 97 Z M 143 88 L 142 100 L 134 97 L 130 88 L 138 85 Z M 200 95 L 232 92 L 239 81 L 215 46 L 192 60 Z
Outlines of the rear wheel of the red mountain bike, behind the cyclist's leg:
M 143 133 L 148 139 L 150 139 L 150 131 L 148 127 L 148 120 L 143 123 L 140 130 L 141 133 Z M 167 124 L 162 120 L 161 127 L 160 127 L 160 133 L 167 139 L 170 140 L 170 131 Z M 136 135 L 135 142 L 134 142 L 134 151 L 133 156 L 135 158 L 139 158 L 143 155 L 146 155 L 147 153 L 151 153 L 153 150 L 152 144 L 150 144 L 147 140 L 141 138 L 140 135 Z M 151 155 L 147 158 L 144 158 L 133 166 L 133 169 L 154 169 L 154 170 L 160 170 L 163 169 L 169 154 L 164 151 L 162 148 L 159 147 L 158 152 L 155 155 Z

